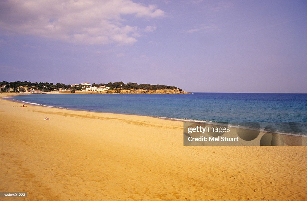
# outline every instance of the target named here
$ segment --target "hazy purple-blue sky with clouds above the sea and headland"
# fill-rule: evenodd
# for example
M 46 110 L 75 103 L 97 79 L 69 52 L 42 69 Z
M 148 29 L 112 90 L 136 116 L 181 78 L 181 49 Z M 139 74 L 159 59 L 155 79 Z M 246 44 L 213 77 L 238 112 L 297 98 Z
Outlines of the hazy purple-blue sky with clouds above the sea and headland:
M 305 0 L 1 0 L 0 80 L 307 93 Z

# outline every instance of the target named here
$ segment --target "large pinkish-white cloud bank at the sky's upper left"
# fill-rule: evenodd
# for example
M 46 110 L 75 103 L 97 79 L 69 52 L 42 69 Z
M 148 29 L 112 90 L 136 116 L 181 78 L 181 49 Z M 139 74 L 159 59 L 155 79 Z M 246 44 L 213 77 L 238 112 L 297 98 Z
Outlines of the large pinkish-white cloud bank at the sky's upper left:
M 2 31 L 81 44 L 133 44 L 141 29 L 127 24 L 128 15 L 150 19 L 165 13 L 131 0 L 0 1 Z

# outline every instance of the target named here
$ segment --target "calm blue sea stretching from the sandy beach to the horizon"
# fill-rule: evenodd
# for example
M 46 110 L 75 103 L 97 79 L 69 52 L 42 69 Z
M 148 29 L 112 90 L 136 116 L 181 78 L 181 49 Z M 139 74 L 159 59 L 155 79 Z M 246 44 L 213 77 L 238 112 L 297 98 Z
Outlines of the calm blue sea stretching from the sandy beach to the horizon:
M 307 94 L 33 94 L 10 99 L 45 107 L 224 123 L 307 136 Z

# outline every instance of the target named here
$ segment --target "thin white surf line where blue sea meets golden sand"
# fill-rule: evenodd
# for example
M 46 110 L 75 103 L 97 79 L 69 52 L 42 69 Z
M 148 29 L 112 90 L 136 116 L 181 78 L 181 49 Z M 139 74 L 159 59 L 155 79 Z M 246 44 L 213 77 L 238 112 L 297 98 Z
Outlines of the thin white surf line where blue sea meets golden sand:
M 65 94 L 68 94 L 68 93 L 65 93 Z M 86 94 L 86 93 L 84 93 L 84 94 Z M 77 109 L 77 108 L 64 108 L 64 107 L 58 107 L 58 106 L 48 106 L 48 105 L 42 105 L 42 104 L 39 104 L 39 103 L 29 103 L 29 102 L 25 102 L 25 101 L 21 101 L 21 100 L 10 99 L 10 98 L 12 98 L 12 96 L 14 97 L 14 96 L 18 96 L 18 95 L 29 95 L 29 94 L 14 94 L 14 95 L 11 95 L 10 97 L 7 97 L 7 98 L 8 98 L 8 100 L 10 100 L 12 102 L 26 103 L 26 104 L 33 105 L 33 106 L 59 108 L 59 109 L 71 110 L 71 111 L 88 111 L 88 112 L 95 112 L 95 113 L 105 113 L 105 112 L 101 112 L 101 111 L 82 110 L 82 109 Z M 106 114 L 134 115 L 134 114 L 121 114 L 121 113 L 106 113 Z M 146 116 L 146 115 L 135 115 L 135 116 Z M 169 120 L 169 121 L 179 121 L 179 122 L 188 122 L 188 123 L 205 123 L 205 124 L 208 124 L 208 125 L 219 125 L 220 124 L 219 122 L 196 120 L 196 119 L 180 119 L 180 118 L 159 117 L 159 116 L 146 116 L 146 117 L 153 117 L 153 118 L 157 118 L 157 119 L 165 119 L 165 120 Z M 279 135 L 307 137 L 307 134 L 304 134 L 304 133 L 291 133 L 291 132 L 279 131 L 279 130 L 268 131 L 265 128 L 246 127 L 246 126 L 242 126 L 242 125 L 239 125 L 239 124 L 229 124 L 229 126 L 234 127 L 234 128 L 242 128 L 242 129 L 246 129 L 246 130 L 252 130 L 252 131 L 259 130 L 261 132 L 270 132 L 270 133 L 279 134 Z

